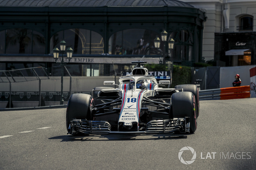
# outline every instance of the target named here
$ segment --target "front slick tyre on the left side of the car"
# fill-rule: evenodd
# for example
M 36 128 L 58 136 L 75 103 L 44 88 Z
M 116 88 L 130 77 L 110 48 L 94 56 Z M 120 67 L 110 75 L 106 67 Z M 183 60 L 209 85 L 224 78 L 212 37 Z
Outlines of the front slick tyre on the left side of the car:
M 92 120 L 90 106 L 94 106 L 94 100 L 89 94 L 75 93 L 68 99 L 66 111 L 66 127 L 70 132 L 69 124 L 72 119 Z

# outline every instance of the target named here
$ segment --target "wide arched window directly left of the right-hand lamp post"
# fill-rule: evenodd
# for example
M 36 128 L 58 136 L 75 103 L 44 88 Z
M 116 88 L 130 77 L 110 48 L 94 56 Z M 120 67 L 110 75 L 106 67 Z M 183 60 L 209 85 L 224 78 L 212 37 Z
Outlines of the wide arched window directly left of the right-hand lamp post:
M 156 33 L 147 29 L 126 29 L 111 35 L 109 54 L 113 55 L 152 55 L 157 54 L 154 47 Z

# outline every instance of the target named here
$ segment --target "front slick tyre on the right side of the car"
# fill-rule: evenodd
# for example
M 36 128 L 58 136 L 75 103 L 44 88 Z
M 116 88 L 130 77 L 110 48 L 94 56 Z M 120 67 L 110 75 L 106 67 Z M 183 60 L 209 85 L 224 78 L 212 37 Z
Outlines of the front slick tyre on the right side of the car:
M 197 128 L 196 99 L 192 92 L 176 92 L 172 94 L 173 117 L 189 117 L 190 133 Z

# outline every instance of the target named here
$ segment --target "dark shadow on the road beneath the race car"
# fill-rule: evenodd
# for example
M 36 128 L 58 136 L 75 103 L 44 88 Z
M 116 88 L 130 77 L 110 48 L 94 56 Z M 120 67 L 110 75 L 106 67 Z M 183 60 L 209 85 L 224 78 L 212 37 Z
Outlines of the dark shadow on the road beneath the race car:
M 111 134 L 111 135 L 63 135 L 50 137 L 49 139 L 62 139 L 61 142 L 74 141 L 123 141 L 123 140 L 172 140 L 172 139 L 187 139 L 188 135 L 192 134 L 156 134 L 156 135 L 127 135 L 127 134 Z

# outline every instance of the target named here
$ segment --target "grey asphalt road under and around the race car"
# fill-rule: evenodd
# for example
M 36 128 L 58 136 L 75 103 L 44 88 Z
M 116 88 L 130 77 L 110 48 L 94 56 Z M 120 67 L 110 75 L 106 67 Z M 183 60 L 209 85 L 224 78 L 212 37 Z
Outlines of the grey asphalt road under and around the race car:
M 200 101 L 189 135 L 67 135 L 65 108 L 0 112 L 0 169 L 255 169 L 256 98 Z M 41 128 L 41 129 L 40 129 Z M 189 146 L 196 159 L 181 163 Z M 190 161 L 185 150 L 180 156 Z M 182 160 L 181 159 L 181 160 Z

